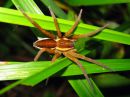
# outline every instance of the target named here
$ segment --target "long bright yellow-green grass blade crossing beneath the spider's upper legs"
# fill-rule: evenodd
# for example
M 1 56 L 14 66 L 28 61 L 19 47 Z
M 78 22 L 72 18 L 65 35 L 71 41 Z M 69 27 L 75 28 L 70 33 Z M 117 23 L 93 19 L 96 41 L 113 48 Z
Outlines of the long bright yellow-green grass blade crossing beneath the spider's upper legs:
M 34 15 L 34 14 L 29 14 L 29 15 L 36 22 L 38 22 L 44 29 L 56 31 L 53 23 L 53 19 L 51 17 L 43 16 L 43 15 Z M 62 32 L 68 31 L 68 29 L 70 29 L 71 26 L 74 24 L 74 22 L 72 21 L 67 21 L 63 19 L 58 19 L 58 21 Z M 0 22 L 33 27 L 32 24 L 19 11 L 7 9 L 7 8 L 0 8 Z M 90 31 L 94 31 L 96 29 L 98 29 L 98 27 L 81 23 L 75 30 L 75 34 L 89 33 Z M 103 30 L 102 33 L 96 35 L 94 38 L 123 43 L 123 44 L 130 44 L 129 41 L 130 35 L 120 33 L 114 30 L 109 30 L 109 29 Z

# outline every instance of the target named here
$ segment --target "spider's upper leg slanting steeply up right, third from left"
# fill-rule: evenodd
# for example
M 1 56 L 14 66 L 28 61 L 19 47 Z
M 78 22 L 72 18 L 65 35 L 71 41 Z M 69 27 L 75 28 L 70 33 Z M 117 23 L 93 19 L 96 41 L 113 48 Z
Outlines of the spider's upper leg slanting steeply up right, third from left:
M 71 33 L 74 31 L 74 29 L 77 27 L 80 18 L 81 18 L 81 14 L 82 14 L 82 9 L 79 12 L 78 18 L 76 20 L 76 22 L 74 23 L 74 25 L 70 28 L 70 30 L 68 32 L 65 33 L 65 37 L 69 37 L 71 35 Z

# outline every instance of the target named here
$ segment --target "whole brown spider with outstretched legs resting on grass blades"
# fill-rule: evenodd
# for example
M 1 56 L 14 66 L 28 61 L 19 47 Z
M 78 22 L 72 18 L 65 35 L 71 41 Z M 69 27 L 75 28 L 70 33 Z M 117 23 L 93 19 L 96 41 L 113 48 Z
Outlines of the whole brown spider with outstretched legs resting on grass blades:
M 50 54 L 54 54 L 51 62 L 54 62 L 58 57 L 61 56 L 61 54 L 63 54 L 65 57 L 67 57 L 71 61 L 75 62 L 80 67 L 80 69 L 82 70 L 82 72 L 84 74 L 84 77 L 89 82 L 89 84 L 92 86 L 92 83 L 87 75 L 86 70 L 84 69 L 84 67 L 82 66 L 82 64 L 80 63 L 80 61 L 78 59 L 82 59 L 82 60 L 97 64 L 97 65 L 102 66 L 103 68 L 106 68 L 109 70 L 111 70 L 111 69 L 109 67 L 107 67 L 106 65 L 104 65 L 103 63 L 97 62 L 94 59 L 91 59 L 84 55 L 78 54 L 76 49 L 74 48 L 74 42 L 77 41 L 79 38 L 86 38 L 86 37 L 90 37 L 90 36 L 97 34 L 98 32 L 102 31 L 104 28 L 106 28 L 108 26 L 108 24 L 104 25 L 103 27 L 101 27 L 95 31 L 89 32 L 87 34 L 71 35 L 80 21 L 81 14 L 82 14 L 82 9 L 81 9 L 74 25 L 71 27 L 71 29 L 68 32 L 65 33 L 65 35 L 62 35 L 60 28 L 58 26 L 56 16 L 54 15 L 53 11 L 50 8 L 49 8 L 49 10 L 50 10 L 50 14 L 54 20 L 54 24 L 55 24 L 55 27 L 57 30 L 57 36 L 44 30 L 39 24 L 37 24 L 34 20 L 32 20 L 32 18 L 29 17 L 23 10 L 20 9 L 20 11 L 23 13 L 23 15 L 37 29 L 39 29 L 44 35 L 46 35 L 48 37 L 48 38 L 43 38 L 41 40 L 37 40 L 36 42 L 33 43 L 33 46 L 39 49 L 39 52 L 37 53 L 37 55 L 34 58 L 34 61 L 37 61 L 38 58 L 41 56 L 41 54 L 45 51 Z

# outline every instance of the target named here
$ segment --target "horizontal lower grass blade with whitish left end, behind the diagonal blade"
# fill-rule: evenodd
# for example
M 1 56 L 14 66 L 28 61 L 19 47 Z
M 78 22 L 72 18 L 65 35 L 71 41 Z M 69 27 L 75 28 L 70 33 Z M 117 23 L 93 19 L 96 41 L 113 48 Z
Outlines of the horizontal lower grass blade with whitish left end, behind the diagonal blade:
M 71 64 L 72 62 L 65 59 L 63 63 Z M 115 71 L 127 71 L 130 70 L 130 59 L 102 59 L 100 61 Z M 87 70 L 88 74 L 93 73 L 104 73 L 109 72 L 95 64 L 81 61 L 84 68 Z M 1 63 L 3 64 L 3 63 Z M 59 64 L 61 66 L 61 64 Z M 62 64 L 64 65 L 64 64 Z M 56 65 L 55 65 L 56 66 Z M 50 61 L 39 61 L 39 62 L 6 62 L 4 65 L 0 66 L 0 80 L 16 80 L 23 79 L 36 74 L 39 71 L 50 68 L 52 64 Z M 58 67 L 57 67 L 58 68 Z M 61 67 L 60 67 L 61 68 Z M 46 72 L 45 72 L 46 73 Z M 60 71 L 56 74 L 57 76 L 73 76 L 82 75 L 81 70 L 75 64 L 70 65 L 65 71 Z M 47 77 L 47 76 L 46 76 Z

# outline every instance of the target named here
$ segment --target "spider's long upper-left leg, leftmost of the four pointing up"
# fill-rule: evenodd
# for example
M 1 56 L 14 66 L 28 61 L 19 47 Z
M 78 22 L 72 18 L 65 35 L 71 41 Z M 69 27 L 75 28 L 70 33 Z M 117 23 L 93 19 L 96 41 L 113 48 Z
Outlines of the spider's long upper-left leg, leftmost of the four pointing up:
M 37 28 L 39 29 L 43 34 L 48 36 L 49 38 L 54 39 L 55 35 L 51 34 L 50 32 L 44 30 L 39 24 L 37 24 L 34 20 L 31 19 L 21 8 L 19 8 L 22 14 Z

